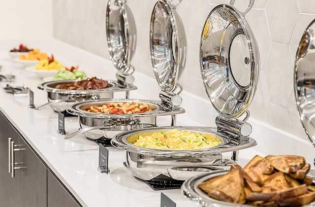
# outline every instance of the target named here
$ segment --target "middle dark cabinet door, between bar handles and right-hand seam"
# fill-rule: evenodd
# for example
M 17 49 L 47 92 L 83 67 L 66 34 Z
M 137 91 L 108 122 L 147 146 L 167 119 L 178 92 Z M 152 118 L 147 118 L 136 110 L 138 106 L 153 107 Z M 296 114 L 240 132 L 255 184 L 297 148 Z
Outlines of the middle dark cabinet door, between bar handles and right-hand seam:
M 22 169 L 14 171 L 18 181 L 17 199 L 20 207 L 47 207 L 47 169 L 37 158 L 32 149 L 18 135 L 12 138 L 17 142 L 17 148 L 22 149 L 14 152 L 17 165 Z

